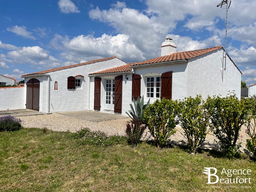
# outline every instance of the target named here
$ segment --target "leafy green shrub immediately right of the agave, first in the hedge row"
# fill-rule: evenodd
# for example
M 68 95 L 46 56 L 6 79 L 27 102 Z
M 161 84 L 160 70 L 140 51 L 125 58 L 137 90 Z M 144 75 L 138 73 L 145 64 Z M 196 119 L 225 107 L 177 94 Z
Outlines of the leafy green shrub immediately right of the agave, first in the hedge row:
M 174 128 L 179 123 L 175 119 L 178 114 L 177 105 L 177 100 L 163 98 L 149 104 L 144 110 L 143 120 L 156 140 L 157 147 L 162 148 L 167 139 L 176 132 Z

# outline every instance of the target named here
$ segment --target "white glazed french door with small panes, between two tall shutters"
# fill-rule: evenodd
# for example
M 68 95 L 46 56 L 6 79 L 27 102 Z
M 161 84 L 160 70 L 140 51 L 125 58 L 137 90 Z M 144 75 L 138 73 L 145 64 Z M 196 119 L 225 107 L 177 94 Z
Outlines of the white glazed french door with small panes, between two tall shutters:
M 105 109 L 114 110 L 115 104 L 115 79 L 106 79 Z

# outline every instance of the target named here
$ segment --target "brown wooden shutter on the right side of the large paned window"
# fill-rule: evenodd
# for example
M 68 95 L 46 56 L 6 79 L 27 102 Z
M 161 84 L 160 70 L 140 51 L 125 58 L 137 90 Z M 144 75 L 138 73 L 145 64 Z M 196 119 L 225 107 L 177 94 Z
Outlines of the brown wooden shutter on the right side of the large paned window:
M 161 75 L 161 99 L 172 99 L 172 71 Z

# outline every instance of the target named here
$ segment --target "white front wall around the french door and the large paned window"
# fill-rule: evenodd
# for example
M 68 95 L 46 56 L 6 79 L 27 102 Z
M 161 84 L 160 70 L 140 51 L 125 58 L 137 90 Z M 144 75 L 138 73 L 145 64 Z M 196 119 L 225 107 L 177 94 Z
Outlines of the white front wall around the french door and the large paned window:
M 150 76 L 151 73 L 161 76 L 162 73 L 172 71 L 172 98 L 183 99 L 187 96 L 187 63 L 171 64 L 171 65 L 159 65 L 148 66 L 142 68 L 134 68 L 134 73 L 142 77 L 141 81 L 141 96 L 146 96 L 146 84 L 145 78 Z M 124 74 L 108 74 L 98 75 L 101 77 L 101 108 L 100 111 L 105 110 L 105 80 L 114 79 L 115 76 L 123 75 L 123 92 L 122 92 L 122 115 L 126 115 L 126 111 L 130 110 L 130 104 L 132 103 L 132 74 L 127 73 L 128 80 L 124 78 Z M 91 89 L 90 89 L 90 108 L 94 108 L 94 76 L 91 76 Z M 156 99 L 151 99 L 150 103 L 153 103 Z M 144 103 L 148 102 L 148 98 L 145 98 Z

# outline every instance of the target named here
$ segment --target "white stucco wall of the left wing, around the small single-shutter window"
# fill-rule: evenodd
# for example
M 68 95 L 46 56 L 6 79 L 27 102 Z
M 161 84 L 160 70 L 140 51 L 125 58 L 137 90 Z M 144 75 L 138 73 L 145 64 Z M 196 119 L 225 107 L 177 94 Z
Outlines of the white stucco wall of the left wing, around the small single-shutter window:
M 50 75 L 50 113 L 60 111 L 81 111 L 88 109 L 88 91 L 89 91 L 89 73 L 125 65 L 122 60 L 114 58 L 111 60 L 91 63 L 87 65 L 77 66 L 73 68 L 66 68 L 59 71 L 46 73 Z M 68 77 L 83 75 L 82 89 L 67 89 Z M 26 77 L 25 83 L 33 77 Z M 47 113 L 47 95 L 48 95 L 48 81 L 47 77 L 34 77 L 40 83 L 40 104 L 39 111 Z M 54 90 L 54 83 L 58 82 L 58 90 Z M 91 84 L 92 98 L 94 98 L 94 78 Z M 93 105 L 93 102 L 92 102 Z M 91 108 L 93 110 L 93 108 Z

